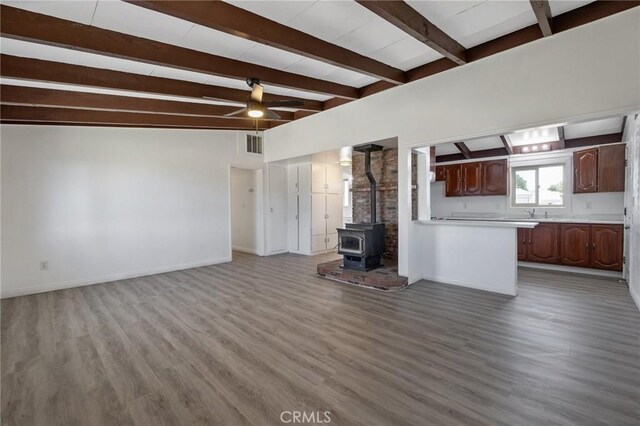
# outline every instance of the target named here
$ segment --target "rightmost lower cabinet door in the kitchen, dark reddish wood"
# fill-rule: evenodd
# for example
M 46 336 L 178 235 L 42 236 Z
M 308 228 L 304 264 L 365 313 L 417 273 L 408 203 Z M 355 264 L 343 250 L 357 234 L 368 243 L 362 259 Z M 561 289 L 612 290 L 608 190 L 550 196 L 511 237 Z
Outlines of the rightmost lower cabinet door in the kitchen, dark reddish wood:
M 622 225 L 591 225 L 591 267 L 622 271 Z

